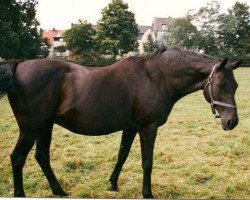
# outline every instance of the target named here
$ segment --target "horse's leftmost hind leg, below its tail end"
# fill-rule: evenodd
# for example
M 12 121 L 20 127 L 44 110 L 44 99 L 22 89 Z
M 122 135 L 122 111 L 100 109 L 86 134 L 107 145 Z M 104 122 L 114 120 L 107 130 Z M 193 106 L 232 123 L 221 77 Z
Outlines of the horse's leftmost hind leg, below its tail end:
M 15 197 L 25 197 L 23 190 L 23 166 L 34 143 L 35 135 L 33 132 L 20 130 L 17 144 L 10 155 L 14 178 Z

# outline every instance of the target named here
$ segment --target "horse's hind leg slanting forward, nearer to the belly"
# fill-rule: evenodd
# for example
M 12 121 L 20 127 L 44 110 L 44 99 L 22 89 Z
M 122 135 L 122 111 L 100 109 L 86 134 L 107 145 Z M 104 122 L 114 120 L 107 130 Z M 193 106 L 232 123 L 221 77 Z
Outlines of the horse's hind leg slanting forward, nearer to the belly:
M 53 124 L 41 129 L 36 140 L 35 158 L 45 174 L 54 195 L 68 196 L 58 183 L 50 165 L 50 143 Z

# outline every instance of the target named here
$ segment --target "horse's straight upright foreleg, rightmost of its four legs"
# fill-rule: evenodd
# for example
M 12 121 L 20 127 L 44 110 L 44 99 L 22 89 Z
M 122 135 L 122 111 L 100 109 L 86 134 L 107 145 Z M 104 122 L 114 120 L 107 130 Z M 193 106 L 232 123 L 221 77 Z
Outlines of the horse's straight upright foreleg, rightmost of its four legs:
M 154 126 L 139 131 L 143 168 L 142 195 L 144 198 L 154 198 L 151 190 L 151 174 L 156 134 L 157 128 Z

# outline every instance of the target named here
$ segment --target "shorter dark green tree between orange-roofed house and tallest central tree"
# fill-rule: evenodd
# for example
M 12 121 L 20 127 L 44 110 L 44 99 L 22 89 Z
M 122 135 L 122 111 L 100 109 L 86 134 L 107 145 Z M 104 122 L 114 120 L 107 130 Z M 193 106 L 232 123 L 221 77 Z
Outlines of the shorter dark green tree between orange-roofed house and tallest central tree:
M 71 29 L 64 33 L 66 48 L 75 55 L 90 58 L 95 53 L 95 34 L 96 31 L 90 23 L 79 20 L 78 24 L 72 25 Z

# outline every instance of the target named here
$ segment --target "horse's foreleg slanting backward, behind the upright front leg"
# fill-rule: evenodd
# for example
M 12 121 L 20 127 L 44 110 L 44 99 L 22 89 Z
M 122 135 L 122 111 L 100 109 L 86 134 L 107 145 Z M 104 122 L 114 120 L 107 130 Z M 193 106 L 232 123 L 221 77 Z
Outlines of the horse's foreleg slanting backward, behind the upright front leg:
M 110 184 L 111 184 L 109 188 L 110 191 L 118 190 L 117 181 L 121 173 L 122 166 L 125 163 L 129 155 L 129 151 L 134 141 L 134 138 L 136 136 L 136 132 L 137 132 L 136 129 L 128 129 L 122 132 L 122 139 L 121 139 L 120 150 L 118 154 L 118 160 L 109 179 Z

